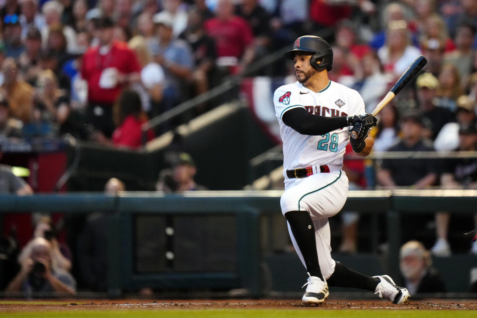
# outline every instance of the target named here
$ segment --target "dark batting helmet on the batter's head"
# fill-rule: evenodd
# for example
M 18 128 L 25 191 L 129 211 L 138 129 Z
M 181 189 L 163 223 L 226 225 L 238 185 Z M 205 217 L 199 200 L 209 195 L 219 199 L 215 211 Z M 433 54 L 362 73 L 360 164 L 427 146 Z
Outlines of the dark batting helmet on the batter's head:
M 286 52 L 283 57 L 288 60 L 293 60 L 294 52 L 312 53 L 310 64 L 317 70 L 331 71 L 333 66 L 333 50 L 328 42 L 319 36 L 304 35 L 296 39 L 293 44 L 293 49 Z M 318 61 L 321 59 L 321 63 Z

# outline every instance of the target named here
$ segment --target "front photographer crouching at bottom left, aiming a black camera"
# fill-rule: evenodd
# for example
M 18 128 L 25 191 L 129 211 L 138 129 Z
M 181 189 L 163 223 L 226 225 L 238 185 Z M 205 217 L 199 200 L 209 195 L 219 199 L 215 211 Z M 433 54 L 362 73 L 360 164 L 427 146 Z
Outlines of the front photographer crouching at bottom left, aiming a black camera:
M 76 294 L 76 281 L 65 270 L 52 264 L 52 244 L 41 237 L 33 240 L 32 248 L 21 262 L 20 272 L 8 284 L 6 292 L 43 292 Z

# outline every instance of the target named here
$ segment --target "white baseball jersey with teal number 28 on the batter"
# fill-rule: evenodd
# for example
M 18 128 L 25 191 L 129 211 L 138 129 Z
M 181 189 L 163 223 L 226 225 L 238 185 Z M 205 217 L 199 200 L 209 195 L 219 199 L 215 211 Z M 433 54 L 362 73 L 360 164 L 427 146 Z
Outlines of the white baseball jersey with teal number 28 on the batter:
M 302 135 L 285 125 L 282 117 L 285 112 L 297 107 L 326 117 L 364 114 L 364 101 L 356 90 L 330 80 L 325 88 L 316 93 L 297 81 L 278 87 L 273 103 L 280 124 L 285 169 L 324 164 L 342 167 L 349 141 L 348 127 L 321 136 Z

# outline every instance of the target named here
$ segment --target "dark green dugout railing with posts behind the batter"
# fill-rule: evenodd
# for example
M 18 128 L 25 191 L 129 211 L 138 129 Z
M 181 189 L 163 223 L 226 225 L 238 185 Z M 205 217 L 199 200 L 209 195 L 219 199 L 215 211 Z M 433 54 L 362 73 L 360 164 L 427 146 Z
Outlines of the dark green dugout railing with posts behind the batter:
M 37 194 L 23 197 L 0 195 L 0 215 L 26 213 L 25 211 L 65 214 L 104 211 L 110 224 L 107 272 L 108 294 L 111 297 L 120 296 L 125 290 L 141 287 L 164 290 L 243 289 L 246 295 L 258 297 L 267 293 L 263 281 L 264 249 L 261 248 L 260 218 L 279 215 L 281 193 L 282 191 L 200 191 L 177 195 L 157 192 L 125 192 L 118 196 L 97 193 Z M 403 213 L 418 214 L 448 210 L 473 214 L 476 206 L 476 190 L 370 190 L 349 191 L 343 211 L 386 215 L 389 253 L 386 255 L 385 267 L 390 275 L 399 277 L 398 251 L 403 243 L 401 240 Z M 236 237 L 231 241 L 237 244 L 235 249 L 237 264 L 229 271 L 174 272 L 167 269 L 163 272 L 138 273 L 135 269 L 134 222 L 135 217 L 145 215 L 234 216 L 235 227 L 230 229 L 230 232 Z M 209 231 L 217 230 L 220 226 L 214 224 Z M 191 224 L 191 231 L 193 227 L 194 224 Z M 466 232 L 466 229 L 463 229 L 463 232 Z M 283 235 L 285 233 L 283 229 Z M 201 243 L 201 241 L 193 242 L 197 246 Z M 469 272 L 470 268 L 467 267 L 471 265 L 461 263 L 460 266 L 461 274 L 464 275 L 465 272 Z M 465 280 L 462 278 L 460 281 Z M 461 287 L 464 292 L 465 286 Z

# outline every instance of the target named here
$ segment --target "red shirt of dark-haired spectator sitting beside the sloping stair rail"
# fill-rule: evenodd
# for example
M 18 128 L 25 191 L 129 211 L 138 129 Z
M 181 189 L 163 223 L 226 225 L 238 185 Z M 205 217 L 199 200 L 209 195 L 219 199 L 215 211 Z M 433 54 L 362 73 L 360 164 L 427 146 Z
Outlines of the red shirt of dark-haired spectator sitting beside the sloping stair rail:
M 113 133 L 113 144 L 116 147 L 125 146 L 136 149 L 142 146 L 143 133 L 141 126 L 146 121 L 138 118 L 135 115 L 129 115 L 124 119 L 121 126 L 116 128 Z M 154 133 L 149 130 L 147 133 L 148 141 L 154 139 Z

